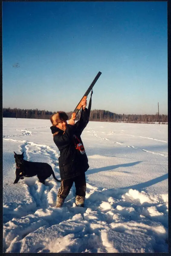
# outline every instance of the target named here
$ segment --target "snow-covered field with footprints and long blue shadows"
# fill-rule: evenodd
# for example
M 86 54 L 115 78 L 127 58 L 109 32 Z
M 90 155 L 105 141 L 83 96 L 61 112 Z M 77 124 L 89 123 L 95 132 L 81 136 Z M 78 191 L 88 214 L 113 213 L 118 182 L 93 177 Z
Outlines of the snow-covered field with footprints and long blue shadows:
M 85 207 L 73 185 L 55 208 L 51 176 L 15 180 L 14 152 L 47 162 L 60 178 L 50 121 L 3 118 L 3 247 L 6 253 L 168 252 L 167 125 L 89 122 Z

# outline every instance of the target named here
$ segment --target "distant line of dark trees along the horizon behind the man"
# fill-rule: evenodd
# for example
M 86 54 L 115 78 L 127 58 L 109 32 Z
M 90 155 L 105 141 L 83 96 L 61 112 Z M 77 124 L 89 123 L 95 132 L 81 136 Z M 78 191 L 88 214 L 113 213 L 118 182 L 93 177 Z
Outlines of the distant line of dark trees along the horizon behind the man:
M 35 119 L 50 119 L 51 115 L 56 112 L 38 110 L 38 109 L 11 109 L 3 108 L 3 117 L 10 118 L 35 118 Z M 66 112 L 69 118 L 73 112 Z M 80 117 L 80 111 L 77 115 L 77 119 Z M 159 120 L 160 118 L 160 120 Z M 126 115 L 126 114 L 116 114 L 108 110 L 94 109 L 90 112 L 90 121 L 102 121 L 102 122 L 145 122 L 145 123 L 167 123 L 168 115 Z

